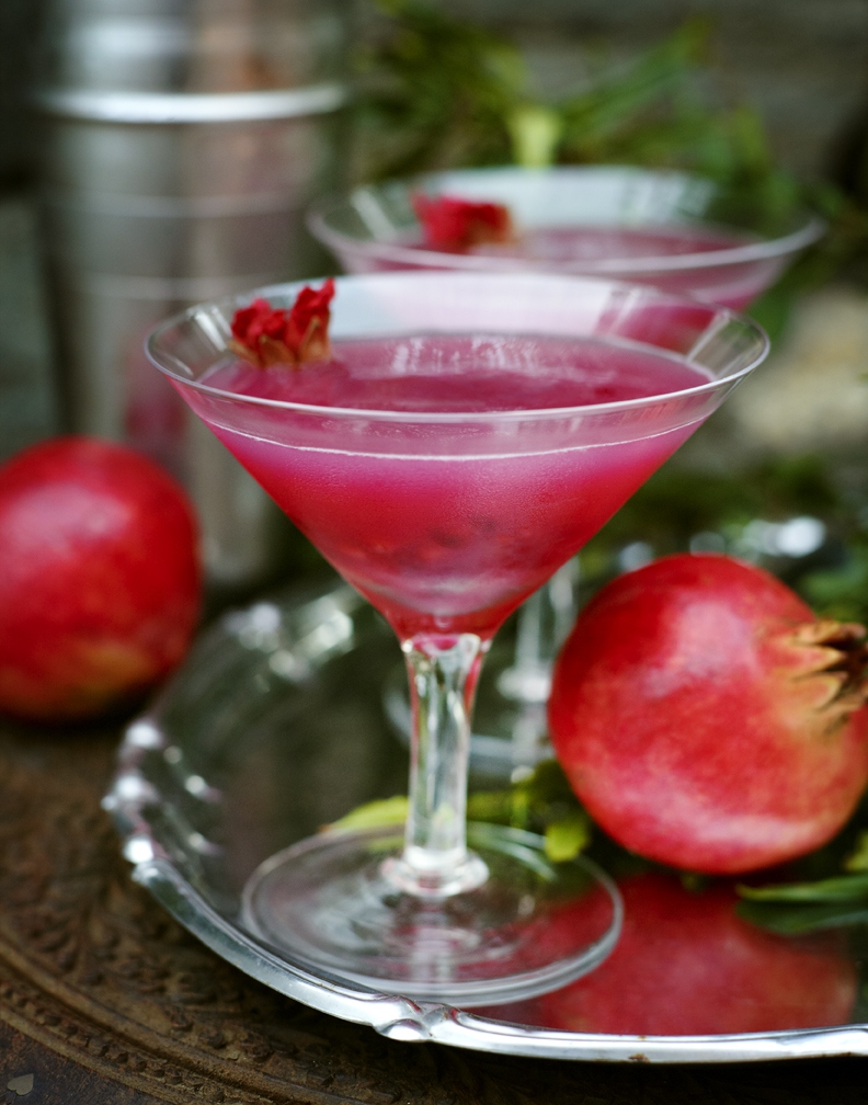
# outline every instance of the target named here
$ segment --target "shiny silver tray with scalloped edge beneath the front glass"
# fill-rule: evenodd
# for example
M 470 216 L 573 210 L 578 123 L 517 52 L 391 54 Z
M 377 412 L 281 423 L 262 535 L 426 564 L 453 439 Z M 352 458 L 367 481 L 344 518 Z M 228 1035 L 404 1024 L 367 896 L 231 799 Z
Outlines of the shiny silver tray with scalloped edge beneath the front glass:
M 134 878 L 247 975 L 393 1040 L 608 1062 L 868 1055 L 865 1023 L 608 1034 L 541 1027 L 528 1003 L 481 1015 L 415 1002 L 311 974 L 245 930 L 242 890 L 266 856 L 362 802 L 404 792 L 406 751 L 381 705 L 383 681 L 399 656 L 374 611 L 334 580 L 225 614 L 126 730 L 105 806 Z M 864 991 L 858 944 L 840 956 L 849 956 L 841 969 L 847 978 L 853 972 L 856 998 Z M 857 1001 L 838 1020 L 861 1017 L 868 1020 Z

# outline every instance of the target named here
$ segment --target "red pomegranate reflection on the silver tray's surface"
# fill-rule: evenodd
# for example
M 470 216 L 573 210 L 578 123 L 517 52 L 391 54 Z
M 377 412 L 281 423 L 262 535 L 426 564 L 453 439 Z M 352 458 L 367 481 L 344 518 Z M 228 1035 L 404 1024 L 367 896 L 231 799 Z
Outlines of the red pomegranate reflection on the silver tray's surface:
M 685 891 L 669 875 L 621 884 L 612 955 L 521 1014 L 572 1032 L 705 1035 L 845 1024 L 856 966 L 835 935 L 774 936 L 742 920 L 732 888 Z M 489 1010 L 502 1018 L 505 1010 Z

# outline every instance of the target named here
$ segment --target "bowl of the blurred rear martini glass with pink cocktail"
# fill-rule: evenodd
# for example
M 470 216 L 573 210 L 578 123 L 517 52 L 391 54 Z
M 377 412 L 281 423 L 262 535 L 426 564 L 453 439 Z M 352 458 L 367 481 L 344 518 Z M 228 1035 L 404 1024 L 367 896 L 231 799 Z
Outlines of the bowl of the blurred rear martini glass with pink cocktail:
M 420 194 L 504 204 L 515 241 L 432 248 L 414 211 Z M 806 211 L 771 222 L 710 180 L 633 166 L 428 173 L 325 201 L 309 222 L 351 273 L 570 273 L 650 284 L 734 311 L 764 292 L 824 230 Z

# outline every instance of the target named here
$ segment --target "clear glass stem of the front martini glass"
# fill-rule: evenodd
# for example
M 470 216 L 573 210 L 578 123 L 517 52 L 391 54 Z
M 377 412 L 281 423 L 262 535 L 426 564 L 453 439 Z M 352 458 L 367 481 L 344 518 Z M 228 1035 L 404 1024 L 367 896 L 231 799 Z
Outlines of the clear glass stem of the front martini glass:
M 475 633 L 425 634 L 402 648 L 413 707 L 410 811 L 404 851 L 384 873 L 406 893 L 446 897 L 488 877 L 467 851 L 465 825 L 470 708 L 488 642 Z

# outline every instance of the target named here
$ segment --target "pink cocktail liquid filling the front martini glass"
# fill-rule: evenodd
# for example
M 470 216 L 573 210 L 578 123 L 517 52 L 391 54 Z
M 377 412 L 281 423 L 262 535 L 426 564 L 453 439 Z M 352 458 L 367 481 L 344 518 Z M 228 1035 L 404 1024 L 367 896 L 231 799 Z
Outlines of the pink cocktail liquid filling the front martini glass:
M 307 412 L 304 431 L 282 409 L 267 412 L 267 431 L 207 420 L 407 638 L 491 635 L 698 424 L 667 430 L 649 413 L 646 425 L 626 435 L 634 440 L 615 430 L 583 442 L 581 428 L 563 430 L 567 419 L 551 436 L 544 420 L 529 432 L 528 423 L 516 430 L 509 420 L 493 430 L 473 413 L 608 403 L 707 381 L 674 357 L 590 339 L 437 335 L 336 343 L 334 362 L 300 371 L 234 362 L 204 382 L 242 396 L 359 409 L 359 420 Z M 381 420 L 368 432 L 359 430 L 366 410 L 468 418 L 443 427 Z

